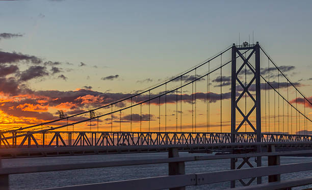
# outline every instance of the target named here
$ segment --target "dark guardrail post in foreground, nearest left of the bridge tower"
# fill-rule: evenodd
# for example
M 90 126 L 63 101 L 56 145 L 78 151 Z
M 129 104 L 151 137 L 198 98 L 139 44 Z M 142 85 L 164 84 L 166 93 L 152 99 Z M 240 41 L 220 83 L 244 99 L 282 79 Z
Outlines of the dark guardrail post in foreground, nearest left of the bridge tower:
M 168 150 L 168 157 L 179 157 L 179 152 L 177 148 L 169 148 Z M 185 174 L 185 163 L 184 161 L 181 162 L 170 162 L 169 163 L 169 175 L 182 175 Z M 184 187 L 175 187 L 170 188 L 170 190 L 185 190 Z

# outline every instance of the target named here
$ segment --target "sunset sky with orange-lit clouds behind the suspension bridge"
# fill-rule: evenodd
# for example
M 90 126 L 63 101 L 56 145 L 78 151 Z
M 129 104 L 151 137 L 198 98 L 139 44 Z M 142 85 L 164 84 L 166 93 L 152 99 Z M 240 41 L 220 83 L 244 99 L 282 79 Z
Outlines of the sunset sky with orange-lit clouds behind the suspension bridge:
M 107 104 L 252 38 L 277 65 L 289 68 L 285 73 L 311 98 L 311 9 L 311 1 L 0 1 L 0 125 L 31 125 L 57 117 L 57 110 L 71 114 Z M 229 68 L 224 72 L 229 75 Z M 216 77 L 211 76 L 211 92 L 218 94 Z M 198 84 L 198 92 L 204 86 Z M 220 112 L 217 101 L 211 106 Z M 230 103 L 224 104 L 228 122 Z M 175 104 L 168 106 L 172 129 L 179 117 L 191 126 L 190 113 L 174 118 Z M 204 112 L 203 100 L 197 106 Z M 124 121 L 128 117 L 122 115 Z M 101 120 L 104 129 L 108 120 Z M 204 120 L 198 112 L 202 126 Z

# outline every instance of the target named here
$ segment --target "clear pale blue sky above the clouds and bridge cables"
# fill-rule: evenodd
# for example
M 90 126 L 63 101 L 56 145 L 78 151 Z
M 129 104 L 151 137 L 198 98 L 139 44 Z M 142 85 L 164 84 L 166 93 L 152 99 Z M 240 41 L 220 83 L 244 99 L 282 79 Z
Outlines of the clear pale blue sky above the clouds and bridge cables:
M 131 91 L 138 90 L 137 80 L 156 80 L 184 71 L 236 43 L 239 33 L 241 41 L 248 41 L 248 35 L 252 38 L 254 31 L 255 41 L 277 64 L 296 65 L 304 76 L 311 65 L 311 4 L 310 1 L 2 1 L 2 32 L 24 36 L 2 40 L 0 48 L 74 64 L 69 68 L 80 62 L 89 66 L 76 67 L 74 72 L 67 73 L 68 80 L 61 86 L 60 81 L 51 78 L 37 80 L 33 84 L 36 89 L 74 90 L 93 84 L 100 91 Z M 98 68 L 91 67 L 94 65 Z M 111 74 L 118 74 L 119 80 L 100 80 Z

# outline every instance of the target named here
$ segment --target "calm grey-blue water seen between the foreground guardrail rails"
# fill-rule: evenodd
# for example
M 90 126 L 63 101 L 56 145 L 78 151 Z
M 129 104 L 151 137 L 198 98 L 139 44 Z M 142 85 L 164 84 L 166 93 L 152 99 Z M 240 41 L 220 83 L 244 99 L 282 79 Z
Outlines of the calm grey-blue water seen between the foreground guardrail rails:
M 180 156 L 199 156 L 207 155 L 204 153 L 180 152 Z M 21 166 L 39 166 L 53 164 L 74 164 L 84 162 L 127 160 L 127 159 L 153 159 L 166 158 L 167 153 L 139 153 L 139 154 L 110 154 L 110 155 L 86 155 L 86 156 L 60 156 L 60 157 L 40 157 L 40 158 L 16 158 L 3 159 L 3 167 L 21 167 Z M 237 165 L 241 163 L 239 159 Z M 312 161 L 312 157 L 281 157 L 281 164 L 290 164 L 295 162 Z M 254 164 L 254 158 L 250 158 Z M 263 165 L 267 165 L 267 158 L 263 158 Z M 206 160 L 186 162 L 186 173 L 203 173 L 228 170 L 230 160 Z M 245 165 L 245 168 L 248 166 Z M 145 178 L 153 176 L 163 176 L 168 174 L 168 164 L 141 165 L 127 167 L 97 168 L 85 170 L 68 170 L 59 172 L 41 172 L 31 174 L 10 175 L 10 189 L 41 189 L 49 187 L 59 187 L 67 185 L 78 185 L 87 183 L 99 183 L 107 181 L 117 181 L 124 179 Z M 308 177 L 310 171 L 297 172 L 293 174 L 282 174 L 281 180 Z M 247 181 L 247 179 L 245 179 Z M 266 182 L 267 178 L 263 178 Z M 237 184 L 239 185 L 239 181 Z M 255 181 L 253 182 L 255 183 Z M 228 188 L 229 182 L 216 183 L 201 186 L 189 186 L 187 189 L 223 189 Z M 294 189 L 308 188 L 310 186 L 297 187 Z

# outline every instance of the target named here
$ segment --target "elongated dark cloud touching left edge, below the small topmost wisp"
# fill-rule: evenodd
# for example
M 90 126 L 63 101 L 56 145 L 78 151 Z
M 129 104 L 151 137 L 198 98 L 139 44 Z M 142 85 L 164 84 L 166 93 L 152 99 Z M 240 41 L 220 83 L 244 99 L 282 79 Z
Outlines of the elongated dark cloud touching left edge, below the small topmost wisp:
M 42 60 L 36 56 L 23 55 L 22 53 L 16 52 L 9 53 L 0 51 L 0 63 L 17 63 L 21 61 L 33 64 L 42 63 Z

